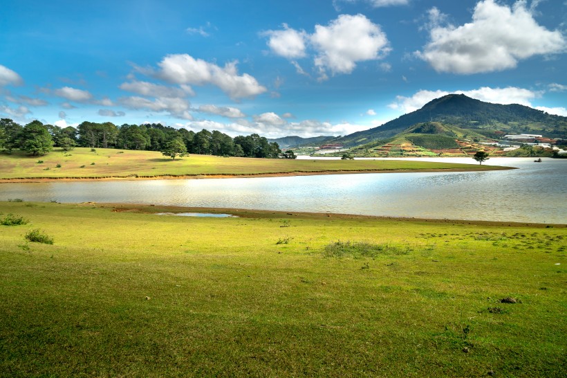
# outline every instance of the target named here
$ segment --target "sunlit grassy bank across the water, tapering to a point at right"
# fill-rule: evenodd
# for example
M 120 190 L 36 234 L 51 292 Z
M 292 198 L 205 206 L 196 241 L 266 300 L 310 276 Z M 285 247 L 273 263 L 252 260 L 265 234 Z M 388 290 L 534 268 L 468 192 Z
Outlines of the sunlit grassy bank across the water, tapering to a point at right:
M 197 175 L 285 174 L 380 170 L 494 170 L 501 167 L 423 161 L 344 161 L 251 159 L 191 155 L 172 161 L 160 152 L 75 148 L 29 156 L 23 152 L 0 154 L 0 179 L 105 178 Z

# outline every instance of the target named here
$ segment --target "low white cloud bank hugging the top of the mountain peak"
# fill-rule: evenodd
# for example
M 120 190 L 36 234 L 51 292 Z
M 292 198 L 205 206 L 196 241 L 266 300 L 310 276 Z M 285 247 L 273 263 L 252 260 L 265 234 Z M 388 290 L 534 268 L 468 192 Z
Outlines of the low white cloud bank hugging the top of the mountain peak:
M 401 113 L 410 113 L 423 107 L 427 102 L 446 96 L 450 93 L 464 94 L 470 98 L 476 98 L 484 102 L 492 102 L 494 104 L 520 104 L 531 107 L 530 100 L 541 97 L 541 92 L 530 91 L 516 87 L 507 88 L 490 88 L 481 87 L 470 91 L 418 91 L 411 97 L 396 96 L 396 101 L 392 102 L 388 107 L 400 110 Z

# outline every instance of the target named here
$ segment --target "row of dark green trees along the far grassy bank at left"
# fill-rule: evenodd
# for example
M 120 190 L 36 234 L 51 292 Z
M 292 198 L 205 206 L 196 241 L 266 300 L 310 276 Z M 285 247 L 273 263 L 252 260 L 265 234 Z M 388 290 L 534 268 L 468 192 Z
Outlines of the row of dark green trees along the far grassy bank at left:
M 66 151 L 76 146 L 159 151 L 173 159 L 184 154 L 295 159 L 292 151 L 282 152 L 277 143 L 258 134 L 232 138 L 217 130 L 193 132 L 160 123 L 117 126 L 85 121 L 76 128 L 62 128 L 34 120 L 21 126 L 9 118 L 0 119 L 0 148 L 8 153 L 19 149 L 44 155 L 53 147 Z

